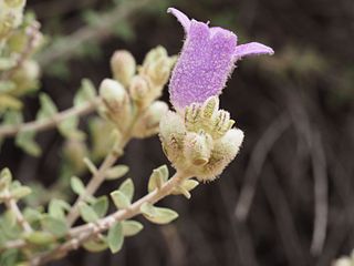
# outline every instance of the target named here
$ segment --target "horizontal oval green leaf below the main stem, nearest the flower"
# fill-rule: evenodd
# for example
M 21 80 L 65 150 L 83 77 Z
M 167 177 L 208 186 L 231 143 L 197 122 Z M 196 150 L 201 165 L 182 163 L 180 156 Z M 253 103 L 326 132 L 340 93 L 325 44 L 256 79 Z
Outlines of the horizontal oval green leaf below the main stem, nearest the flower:
M 155 207 L 150 203 L 144 203 L 140 207 L 142 214 L 155 224 L 168 224 L 178 217 L 178 214 L 169 208 Z

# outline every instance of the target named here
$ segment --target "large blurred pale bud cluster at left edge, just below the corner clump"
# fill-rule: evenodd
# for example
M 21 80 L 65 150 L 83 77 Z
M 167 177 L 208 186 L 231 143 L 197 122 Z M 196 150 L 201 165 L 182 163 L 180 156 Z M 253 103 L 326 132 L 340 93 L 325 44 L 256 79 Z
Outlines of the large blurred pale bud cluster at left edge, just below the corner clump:
M 2 88 L 0 112 L 6 109 L 20 109 L 19 98 L 39 89 L 40 66 L 32 55 L 43 44 L 40 24 L 32 16 L 22 19 L 24 1 L 0 1 L 0 50 L 2 53 L 0 72 Z M 8 8 L 4 8 L 8 7 Z M 3 18 L 17 18 L 14 24 Z M 21 14 L 21 16 L 20 16 Z M 7 24 L 6 28 L 3 25 Z

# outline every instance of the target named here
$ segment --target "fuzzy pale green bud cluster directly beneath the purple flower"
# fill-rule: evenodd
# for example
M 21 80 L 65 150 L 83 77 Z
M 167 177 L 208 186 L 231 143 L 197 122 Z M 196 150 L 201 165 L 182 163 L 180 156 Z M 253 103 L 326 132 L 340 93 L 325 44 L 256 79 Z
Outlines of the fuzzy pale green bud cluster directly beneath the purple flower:
M 168 160 L 179 171 L 199 181 L 215 180 L 235 158 L 243 132 L 232 129 L 235 121 L 219 110 L 219 99 L 192 103 L 184 112 L 168 112 L 160 122 L 160 140 Z

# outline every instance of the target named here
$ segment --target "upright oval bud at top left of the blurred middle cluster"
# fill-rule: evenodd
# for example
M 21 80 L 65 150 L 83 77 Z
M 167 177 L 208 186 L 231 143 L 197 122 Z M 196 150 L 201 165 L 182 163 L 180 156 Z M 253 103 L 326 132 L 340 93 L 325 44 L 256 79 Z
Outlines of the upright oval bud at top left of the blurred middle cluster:
M 111 69 L 113 78 L 128 86 L 136 71 L 136 62 L 128 51 L 117 50 L 111 58 Z

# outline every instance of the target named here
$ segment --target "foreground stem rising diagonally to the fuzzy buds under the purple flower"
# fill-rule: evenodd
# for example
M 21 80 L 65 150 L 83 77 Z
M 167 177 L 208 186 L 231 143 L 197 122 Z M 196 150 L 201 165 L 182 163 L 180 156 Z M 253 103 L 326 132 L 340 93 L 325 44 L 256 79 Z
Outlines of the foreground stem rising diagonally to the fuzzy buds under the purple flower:
M 31 266 L 43 265 L 48 262 L 51 262 L 58 258 L 59 255 L 65 255 L 73 249 L 77 249 L 83 243 L 85 243 L 91 237 L 107 231 L 111 226 L 113 226 L 118 221 L 129 219 L 138 214 L 140 214 L 140 207 L 144 203 L 155 204 L 162 198 L 170 195 L 173 190 L 181 184 L 186 178 L 191 177 L 191 175 L 183 172 L 176 172 L 175 175 L 167 181 L 159 190 L 155 190 L 142 197 L 140 200 L 133 203 L 129 207 L 125 209 L 119 209 L 102 219 L 98 219 L 95 223 L 90 223 L 83 226 L 74 227 L 70 232 L 70 234 L 74 235 L 73 238 L 66 241 L 62 245 L 58 246 L 53 250 L 42 254 L 38 257 L 34 257 L 31 262 Z M 73 232 L 75 232 L 73 234 Z

